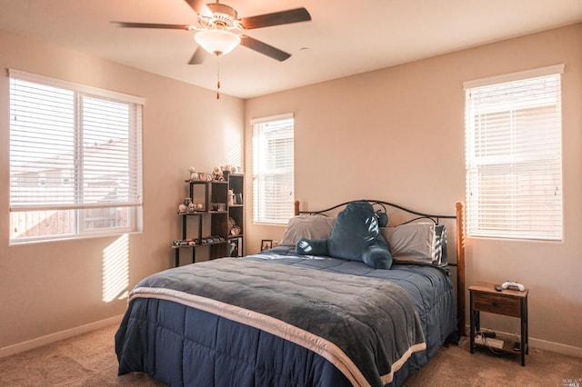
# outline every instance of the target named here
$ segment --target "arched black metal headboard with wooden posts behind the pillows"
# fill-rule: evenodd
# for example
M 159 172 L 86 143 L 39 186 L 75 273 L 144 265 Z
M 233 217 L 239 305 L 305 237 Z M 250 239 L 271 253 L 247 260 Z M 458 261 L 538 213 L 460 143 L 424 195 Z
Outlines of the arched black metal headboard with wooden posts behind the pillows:
M 455 251 L 457 253 L 457 262 L 448 263 L 450 266 L 457 267 L 457 330 L 460 335 L 465 335 L 465 204 L 457 203 L 455 215 L 435 215 L 430 213 L 420 213 L 414 210 L 409 210 L 401 205 L 385 202 L 382 200 L 369 200 L 364 199 L 373 205 L 380 205 L 386 209 L 386 206 L 399 210 L 403 213 L 410 214 L 411 219 L 407 219 L 406 222 L 409 223 L 416 220 L 430 219 L 433 222 L 439 224 L 441 220 L 449 219 L 454 222 L 455 228 Z M 336 204 L 333 207 L 326 208 L 324 210 L 317 211 L 304 211 L 299 208 L 299 201 L 295 202 L 295 214 L 329 214 L 334 213 L 345 206 L 347 203 Z

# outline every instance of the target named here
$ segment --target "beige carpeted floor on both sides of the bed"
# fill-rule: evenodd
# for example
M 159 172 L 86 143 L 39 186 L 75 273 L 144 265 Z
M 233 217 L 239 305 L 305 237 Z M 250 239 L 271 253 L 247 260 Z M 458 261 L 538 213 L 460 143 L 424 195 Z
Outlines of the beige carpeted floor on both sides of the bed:
M 141 373 L 117 376 L 116 326 L 0 359 L 0 386 L 164 386 Z M 532 349 L 517 356 L 471 355 L 467 338 L 441 348 L 405 383 L 414 386 L 582 386 L 582 358 Z

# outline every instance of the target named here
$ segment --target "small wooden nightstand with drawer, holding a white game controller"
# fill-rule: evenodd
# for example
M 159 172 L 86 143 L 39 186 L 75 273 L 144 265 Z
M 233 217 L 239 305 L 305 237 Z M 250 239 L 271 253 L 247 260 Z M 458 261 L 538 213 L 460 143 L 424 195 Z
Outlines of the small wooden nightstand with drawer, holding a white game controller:
M 513 348 L 513 342 L 504 342 L 502 349 L 495 349 L 499 352 L 520 353 L 521 365 L 526 365 L 526 353 L 529 353 L 527 342 L 527 289 L 525 292 L 517 290 L 502 290 L 497 292 L 493 283 L 475 283 L 469 286 L 471 320 L 471 353 L 476 345 L 475 334 L 479 331 L 479 313 L 497 313 L 506 316 L 517 317 L 521 322 L 521 343 L 519 352 Z

